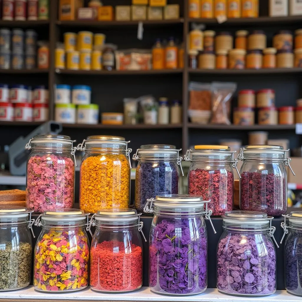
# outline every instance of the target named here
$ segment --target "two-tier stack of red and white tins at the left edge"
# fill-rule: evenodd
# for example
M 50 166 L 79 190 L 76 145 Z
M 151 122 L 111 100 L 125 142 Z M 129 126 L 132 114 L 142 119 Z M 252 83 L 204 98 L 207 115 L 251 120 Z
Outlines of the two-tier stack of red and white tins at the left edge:
M 0 121 L 44 122 L 48 120 L 48 90 L 26 85 L 0 84 Z

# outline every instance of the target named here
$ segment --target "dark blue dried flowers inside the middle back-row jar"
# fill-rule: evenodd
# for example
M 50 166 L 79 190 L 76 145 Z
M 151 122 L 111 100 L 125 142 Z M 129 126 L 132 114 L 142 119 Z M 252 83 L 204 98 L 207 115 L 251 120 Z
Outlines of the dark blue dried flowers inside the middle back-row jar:
M 147 198 L 160 194 L 178 194 L 177 163 L 140 162 L 135 175 L 135 207 L 143 212 Z

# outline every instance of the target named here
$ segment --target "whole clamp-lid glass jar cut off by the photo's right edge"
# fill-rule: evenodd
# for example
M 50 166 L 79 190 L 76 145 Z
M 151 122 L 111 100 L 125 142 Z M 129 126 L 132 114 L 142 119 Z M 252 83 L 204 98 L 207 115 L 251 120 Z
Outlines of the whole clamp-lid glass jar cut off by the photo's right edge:
M 289 223 L 286 225 L 286 218 Z M 291 294 L 302 296 L 302 211 L 284 215 L 281 223 L 284 230 L 284 285 Z

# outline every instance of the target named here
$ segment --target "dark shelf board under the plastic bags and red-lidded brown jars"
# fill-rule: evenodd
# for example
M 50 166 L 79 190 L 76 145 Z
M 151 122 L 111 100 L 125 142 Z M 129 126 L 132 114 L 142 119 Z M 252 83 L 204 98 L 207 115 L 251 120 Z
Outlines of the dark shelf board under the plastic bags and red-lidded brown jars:
M 240 125 L 215 125 L 215 124 L 188 124 L 189 128 L 192 129 L 217 129 L 217 130 L 294 130 L 296 125 L 251 125 L 251 126 L 240 126 Z

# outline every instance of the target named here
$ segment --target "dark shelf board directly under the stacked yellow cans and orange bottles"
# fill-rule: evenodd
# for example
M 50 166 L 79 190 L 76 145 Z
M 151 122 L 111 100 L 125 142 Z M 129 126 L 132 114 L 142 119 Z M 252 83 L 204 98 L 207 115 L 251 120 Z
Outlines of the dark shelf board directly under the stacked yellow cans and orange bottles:
M 301 69 L 302 70 L 302 69 Z M 182 73 L 183 69 L 158 69 L 158 70 L 71 70 L 71 69 L 56 69 L 56 73 L 70 75 L 153 75 L 153 74 L 169 74 Z

